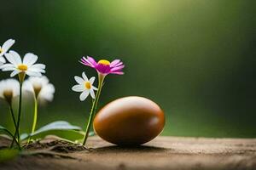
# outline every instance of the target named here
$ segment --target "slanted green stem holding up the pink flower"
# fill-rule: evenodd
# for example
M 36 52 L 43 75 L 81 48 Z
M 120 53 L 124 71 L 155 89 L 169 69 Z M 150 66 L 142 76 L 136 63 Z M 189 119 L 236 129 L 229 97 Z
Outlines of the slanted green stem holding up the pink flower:
M 99 77 L 98 78 L 98 80 L 99 80 L 99 82 L 98 82 L 98 90 L 96 92 L 96 98 L 93 101 L 91 109 L 90 109 L 90 117 L 89 117 L 89 120 L 88 120 L 88 123 L 87 123 L 87 126 L 86 126 L 83 145 L 85 145 L 86 140 L 88 139 L 88 135 L 90 133 L 90 127 L 92 125 L 94 116 L 96 114 L 96 107 L 98 105 L 98 101 L 99 101 L 99 98 L 100 98 L 100 95 L 101 95 L 101 92 L 102 92 L 102 85 L 103 85 L 105 76 L 99 73 L 98 77 Z

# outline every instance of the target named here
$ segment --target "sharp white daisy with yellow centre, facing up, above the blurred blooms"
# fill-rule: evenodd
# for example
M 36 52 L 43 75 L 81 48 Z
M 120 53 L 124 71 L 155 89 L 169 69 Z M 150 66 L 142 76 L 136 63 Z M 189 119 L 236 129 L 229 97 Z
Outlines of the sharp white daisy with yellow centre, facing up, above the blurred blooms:
M 10 63 L 0 66 L 0 69 L 2 71 L 13 71 L 10 77 L 15 77 L 21 72 L 31 77 L 41 77 L 42 73 L 45 73 L 45 65 L 35 64 L 38 60 L 38 56 L 35 54 L 25 54 L 23 61 L 20 58 L 20 54 L 15 51 L 9 51 L 8 54 L 5 54 L 5 57 Z

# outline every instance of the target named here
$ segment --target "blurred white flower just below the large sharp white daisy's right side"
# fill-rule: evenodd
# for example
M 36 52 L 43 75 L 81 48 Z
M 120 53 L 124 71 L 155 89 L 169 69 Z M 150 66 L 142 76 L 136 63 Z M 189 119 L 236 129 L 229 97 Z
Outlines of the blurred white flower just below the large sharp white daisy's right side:
M 52 101 L 55 94 L 55 87 L 49 83 L 49 79 L 43 77 L 29 77 L 24 82 L 24 89 L 35 94 L 40 101 Z

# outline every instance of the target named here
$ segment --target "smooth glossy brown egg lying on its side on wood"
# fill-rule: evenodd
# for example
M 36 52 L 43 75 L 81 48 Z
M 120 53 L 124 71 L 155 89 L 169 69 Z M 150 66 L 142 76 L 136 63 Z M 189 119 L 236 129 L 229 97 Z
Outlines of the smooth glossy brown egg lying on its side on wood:
M 96 134 L 112 144 L 137 145 L 154 139 L 165 126 L 165 115 L 150 99 L 116 99 L 96 114 Z

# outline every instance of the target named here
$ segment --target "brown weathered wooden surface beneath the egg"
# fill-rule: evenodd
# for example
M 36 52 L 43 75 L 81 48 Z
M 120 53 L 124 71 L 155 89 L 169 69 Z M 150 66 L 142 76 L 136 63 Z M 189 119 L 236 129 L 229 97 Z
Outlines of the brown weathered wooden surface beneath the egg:
M 90 150 L 20 156 L 0 169 L 256 169 L 256 139 L 158 137 L 124 148 L 90 137 Z

